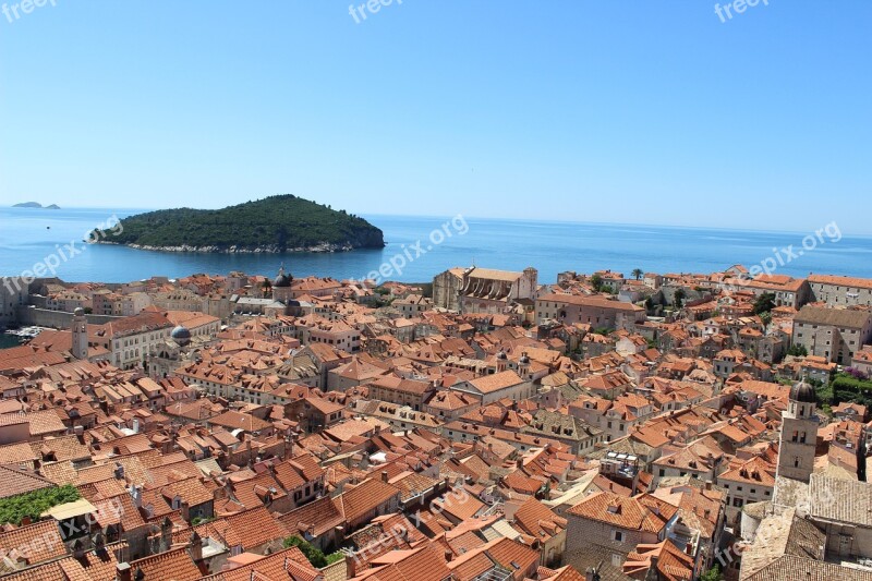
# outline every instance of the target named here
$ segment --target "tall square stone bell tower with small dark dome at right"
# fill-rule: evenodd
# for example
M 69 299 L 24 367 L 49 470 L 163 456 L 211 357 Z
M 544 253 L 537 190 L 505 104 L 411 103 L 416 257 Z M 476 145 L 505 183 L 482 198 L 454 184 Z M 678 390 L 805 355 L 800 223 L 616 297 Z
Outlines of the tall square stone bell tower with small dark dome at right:
M 787 411 L 782 414 L 782 437 L 778 446 L 779 476 L 808 483 L 814 471 L 814 448 L 818 441 L 818 416 L 814 388 L 804 379 L 790 388 Z

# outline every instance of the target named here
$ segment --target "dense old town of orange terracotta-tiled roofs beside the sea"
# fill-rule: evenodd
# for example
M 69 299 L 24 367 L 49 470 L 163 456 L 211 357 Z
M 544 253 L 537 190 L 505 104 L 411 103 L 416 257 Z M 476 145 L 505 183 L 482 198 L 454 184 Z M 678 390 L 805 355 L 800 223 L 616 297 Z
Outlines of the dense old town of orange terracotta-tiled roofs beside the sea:
M 0 281 L 2 579 L 872 580 L 872 279 L 276 270 Z

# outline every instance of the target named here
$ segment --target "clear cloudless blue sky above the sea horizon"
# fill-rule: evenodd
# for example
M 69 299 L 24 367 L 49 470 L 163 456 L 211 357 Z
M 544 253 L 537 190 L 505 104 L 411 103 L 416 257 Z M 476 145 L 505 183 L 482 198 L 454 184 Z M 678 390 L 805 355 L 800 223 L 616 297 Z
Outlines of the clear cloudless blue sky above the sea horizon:
M 869 0 L 55 2 L 0 14 L 1 204 L 872 232 Z

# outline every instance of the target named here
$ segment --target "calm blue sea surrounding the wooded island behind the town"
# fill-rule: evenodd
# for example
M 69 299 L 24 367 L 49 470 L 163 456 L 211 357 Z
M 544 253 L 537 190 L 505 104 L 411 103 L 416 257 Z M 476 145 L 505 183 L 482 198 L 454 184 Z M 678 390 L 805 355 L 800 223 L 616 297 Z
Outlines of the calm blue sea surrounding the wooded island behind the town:
M 194 273 L 272 275 L 283 262 L 294 276 L 362 279 L 402 256 L 407 264 L 386 278 L 428 281 L 453 266 L 522 270 L 533 266 L 541 282 L 554 282 L 557 273 L 591 273 L 610 268 L 629 276 L 633 268 L 652 273 L 712 273 L 741 263 L 750 267 L 771 259 L 773 249 L 802 249 L 810 232 L 760 232 L 716 228 L 680 228 L 486 218 L 364 216 L 385 232 L 383 250 L 339 253 L 202 254 L 150 252 L 81 241 L 95 227 L 142 210 L 109 208 L 0 208 L 0 276 L 21 275 L 50 255 L 70 254 L 57 276 L 66 281 L 124 282 L 162 275 Z M 433 234 L 441 231 L 441 237 Z M 450 237 L 447 235 L 450 232 Z M 872 238 L 822 233 L 813 250 L 804 251 L 775 273 L 804 277 L 809 273 L 872 277 Z M 444 240 L 440 240 L 444 238 Z M 417 244 L 417 242 L 421 242 Z M 807 240 L 807 244 L 811 245 Z M 421 254 L 419 255 L 419 251 Z M 412 259 L 409 259 L 409 257 Z M 783 254 L 784 257 L 784 254 Z M 49 262 L 51 259 L 49 258 Z M 395 264 L 399 264 L 395 258 Z

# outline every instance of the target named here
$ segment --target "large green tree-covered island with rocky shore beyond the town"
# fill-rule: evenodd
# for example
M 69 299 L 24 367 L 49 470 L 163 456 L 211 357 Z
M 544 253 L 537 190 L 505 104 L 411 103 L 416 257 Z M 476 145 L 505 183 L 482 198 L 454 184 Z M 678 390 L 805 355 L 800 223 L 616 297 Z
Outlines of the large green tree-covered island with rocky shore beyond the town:
M 137 214 L 90 240 L 171 252 L 281 253 L 382 249 L 384 233 L 363 218 L 294 195 L 221 209 Z

